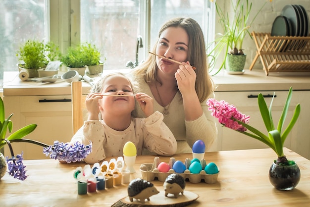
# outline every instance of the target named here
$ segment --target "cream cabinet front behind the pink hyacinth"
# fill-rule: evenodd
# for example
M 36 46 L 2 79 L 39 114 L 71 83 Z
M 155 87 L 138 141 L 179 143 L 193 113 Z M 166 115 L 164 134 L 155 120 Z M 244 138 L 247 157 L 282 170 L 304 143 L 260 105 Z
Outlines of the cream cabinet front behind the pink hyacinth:
M 269 97 L 265 98 L 266 104 L 269 106 L 273 96 L 273 91 L 215 92 L 215 99 L 217 101 L 224 100 L 229 104 L 233 104 L 243 114 L 250 115 L 251 118 L 249 124 L 264 134 L 267 134 L 265 125 L 258 109 L 258 99 L 256 96 L 259 93 Z M 275 92 L 276 97 L 274 98 L 272 104 L 272 118 L 276 126 L 279 117 L 281 116 L 287 94 L 288 91 Z M 288 135 L 284 146 L 299 153 L 302 156 L 310 158 L 310 109 L 308 107 L 310 103 L 310 91 L 293 91 L 289 112 L 287 114 L 286 122 L 283 128 L 285 129 L 287 126 L 292 117 L 295 106 L 298 103 L 301 104 L 301 114 L 291 133 Z M 232 129 L 222 127 L 218 122 L 217 129 L 218 140 L 217 146 L 215 146 L 215 148 L 218 151 L 268 148 L 268 146 L 254 138 L 236 132 Z

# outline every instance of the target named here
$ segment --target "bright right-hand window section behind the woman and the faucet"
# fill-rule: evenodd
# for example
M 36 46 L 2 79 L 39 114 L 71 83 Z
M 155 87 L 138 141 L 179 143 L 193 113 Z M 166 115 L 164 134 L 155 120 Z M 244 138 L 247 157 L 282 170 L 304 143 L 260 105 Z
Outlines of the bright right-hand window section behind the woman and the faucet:
M 209 0 L 81 0 L 81 42 L 91 42 L 101 49 L 106 58 L 104 69 L 124 69 L 128 61 L 136 62 L 138 35 L 143 42 L 143 48 L 138 48 L 141 62 L 168 19 L 194 18 L 204 29 L 207 41 L 213 31 L 208 25 L 209 7 Z

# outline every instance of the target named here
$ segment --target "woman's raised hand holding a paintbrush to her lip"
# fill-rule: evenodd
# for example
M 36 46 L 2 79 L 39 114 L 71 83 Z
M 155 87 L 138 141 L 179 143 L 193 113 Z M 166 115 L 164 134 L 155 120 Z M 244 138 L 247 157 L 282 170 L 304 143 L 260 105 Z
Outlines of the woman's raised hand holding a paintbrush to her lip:
M 182 96 L 186 94 L 196 93 L 195 91 L 195 82 L 196 82 L 196 73 L 191 67 L 190 62 L 183 62 L 179 65 L 174 74 L 175 79 L 177 80 L 178 88 Z

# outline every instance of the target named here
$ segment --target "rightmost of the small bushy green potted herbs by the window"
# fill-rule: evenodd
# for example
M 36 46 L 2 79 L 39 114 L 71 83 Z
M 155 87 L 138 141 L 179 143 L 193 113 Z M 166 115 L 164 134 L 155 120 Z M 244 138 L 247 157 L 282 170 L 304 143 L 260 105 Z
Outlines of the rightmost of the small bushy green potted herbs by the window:
M 82 51 L 85 54 L 85 64 L 89 74 L 100 74 L 103 72 L 101 53 L 95 45 L 90 43 L 82 44 Z

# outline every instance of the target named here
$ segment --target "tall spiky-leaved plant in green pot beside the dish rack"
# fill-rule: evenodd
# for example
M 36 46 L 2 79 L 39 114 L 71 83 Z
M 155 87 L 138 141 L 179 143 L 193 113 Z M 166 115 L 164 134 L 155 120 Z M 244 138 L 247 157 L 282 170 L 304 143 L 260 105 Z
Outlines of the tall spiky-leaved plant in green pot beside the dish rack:
M 213 2 L 214 0 L 210 1 Z M 225 1 L 225 3 L 227 3 L 227 1 Z M 216 59 L 224 52 L 223 61 L 215 74 L 222 68 L 232 71 L 232 74 L 240 74 L 246 62 L 246 54 L 243 52 L 242 48 L 244 38 L 247 35 L 252 38 L 249 29 L 266 2 L 258 10 L 252 20 L 249 18 L 252 10 L 252 2 L 249 3 L 249 0 L 231 0 L 232 15 L 230 15 L 228 11 L 225 12 L 218 5 L 217 1 L 215 1 L 214 4 L 218 22 L 223 33 L 216 34 L 215 40 L 207 46 L 207 54 L 211 58 L 210 62 L 212 63 L 210 72 L 215 66 Z

